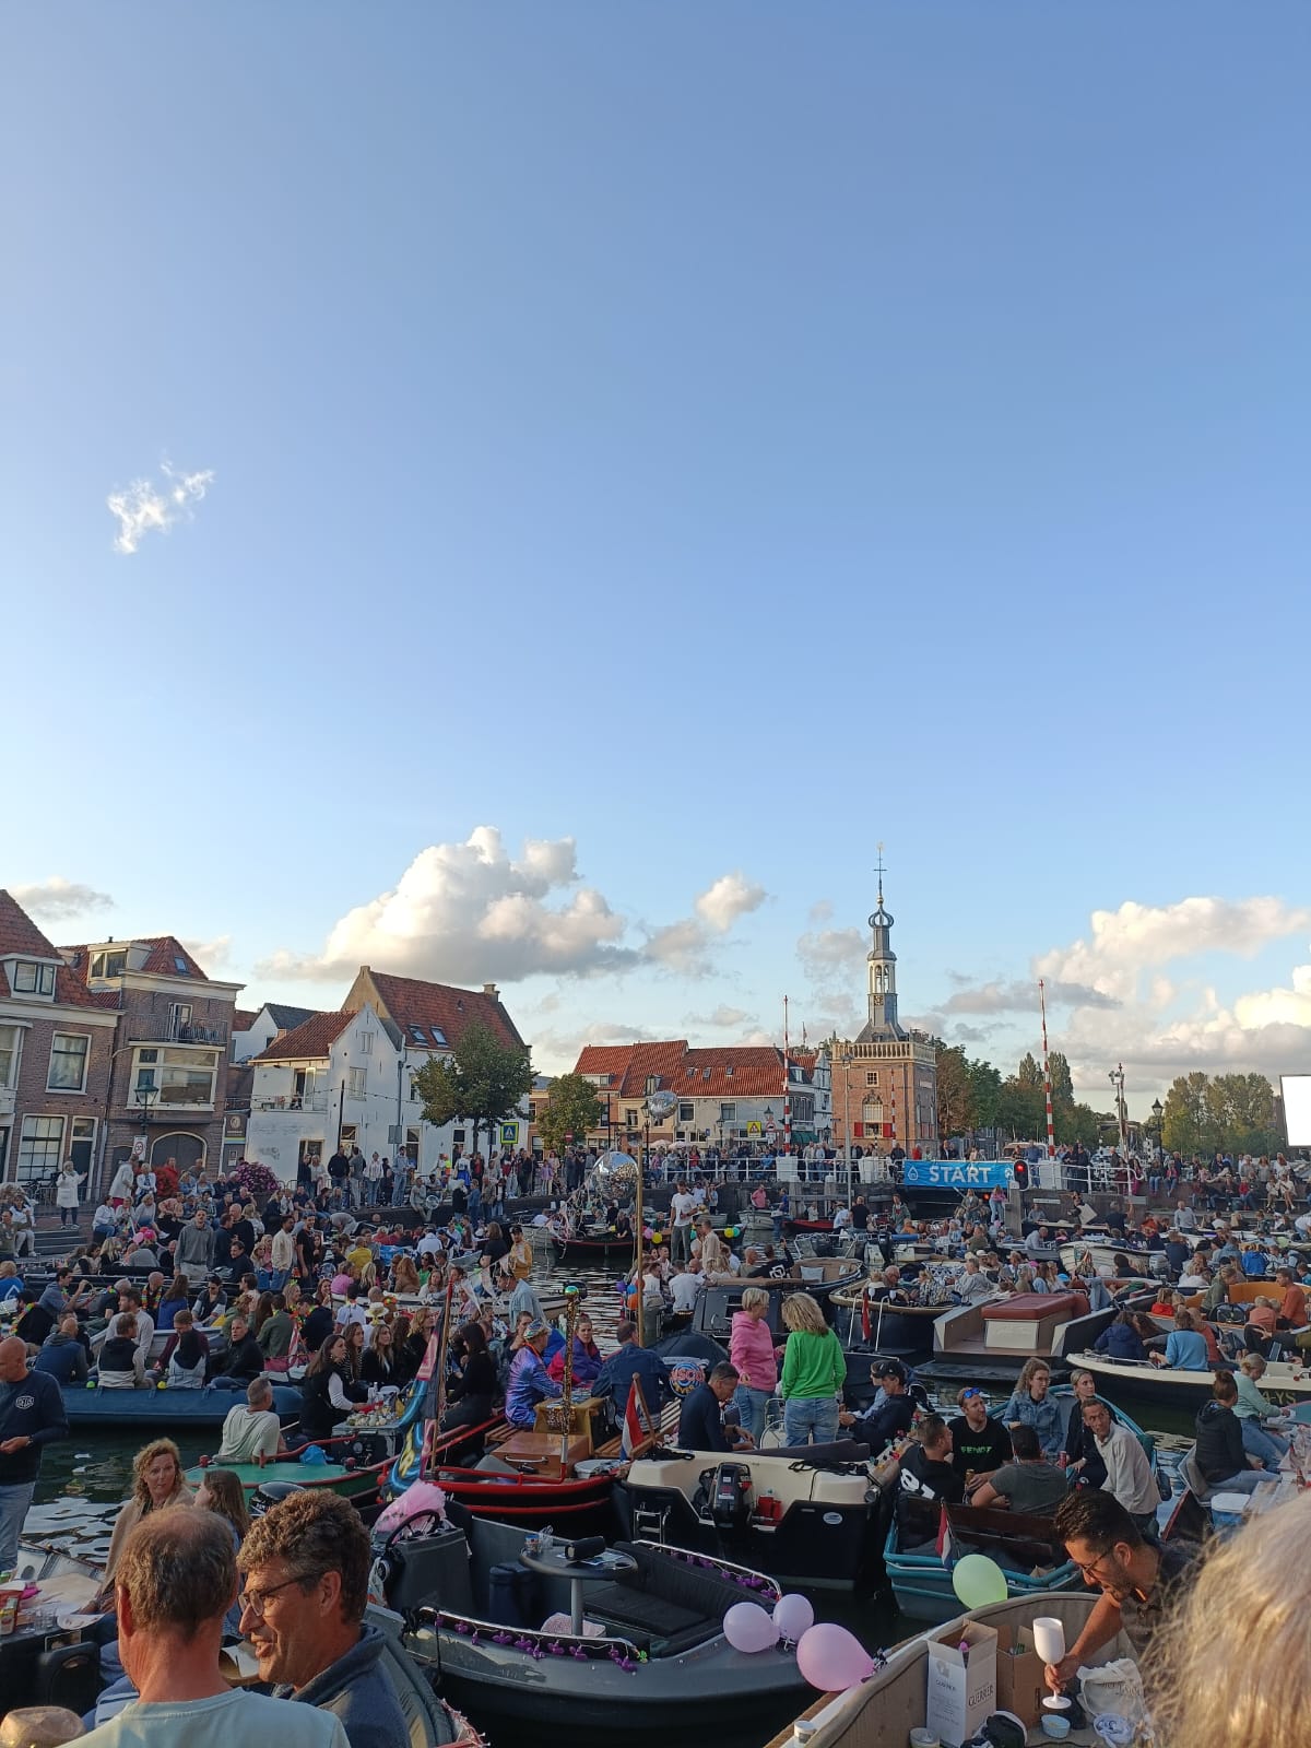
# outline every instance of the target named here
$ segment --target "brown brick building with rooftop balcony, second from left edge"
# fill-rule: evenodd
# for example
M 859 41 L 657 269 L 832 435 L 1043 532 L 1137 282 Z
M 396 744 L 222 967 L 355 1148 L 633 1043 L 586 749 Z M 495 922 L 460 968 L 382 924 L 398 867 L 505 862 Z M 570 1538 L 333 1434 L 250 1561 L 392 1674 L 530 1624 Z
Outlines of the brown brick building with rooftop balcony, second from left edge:
M 131 1155 L 178 1171 L 222 1159 L 227 1054 L 241 984 L 206 977 L 175 935 L 59 947 L 73 979 L 117 1007 L 105 1182 Z M 98 1187 L 98 1185 L 94 1185 Z

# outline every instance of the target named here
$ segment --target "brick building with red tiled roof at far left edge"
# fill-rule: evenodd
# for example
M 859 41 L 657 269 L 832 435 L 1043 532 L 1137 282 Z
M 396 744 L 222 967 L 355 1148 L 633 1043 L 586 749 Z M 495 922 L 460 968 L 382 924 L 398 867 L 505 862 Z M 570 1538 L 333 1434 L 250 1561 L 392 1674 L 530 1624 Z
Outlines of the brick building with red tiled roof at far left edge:
M 0 1182 L 35 1190 L 72 1159 L 94 1194 L 117 1024 L 114 998 L 0 891 Z

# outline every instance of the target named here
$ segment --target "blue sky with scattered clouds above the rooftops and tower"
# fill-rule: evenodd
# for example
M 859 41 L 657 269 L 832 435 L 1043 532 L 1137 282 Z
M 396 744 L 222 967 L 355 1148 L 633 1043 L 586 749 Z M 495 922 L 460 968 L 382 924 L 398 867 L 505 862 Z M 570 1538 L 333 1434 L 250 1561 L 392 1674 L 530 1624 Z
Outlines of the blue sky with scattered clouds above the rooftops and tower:
M 1311 1068 L 1311 12 L 17 5 L 0 881 L 241 1002 Z M 1299 795 L 1302 801 L 1299 802 Z

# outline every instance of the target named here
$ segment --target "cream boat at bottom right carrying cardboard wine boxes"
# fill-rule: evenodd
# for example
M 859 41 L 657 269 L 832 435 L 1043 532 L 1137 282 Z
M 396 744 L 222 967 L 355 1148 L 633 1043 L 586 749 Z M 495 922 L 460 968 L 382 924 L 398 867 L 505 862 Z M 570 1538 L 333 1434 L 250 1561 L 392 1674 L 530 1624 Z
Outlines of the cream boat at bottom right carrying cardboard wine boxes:
M 806 1741 L 809 1748 L 900 1748 L 911 1731 L 923 1731 L 928 1711 L 928 1655 L 933 1641 L 961 1641 L 970 1626 L 991 1627 L 998 1634 L 998 1647 L 1005 1648 L 1019 1643 L 1019 1633 L 1033 1627 L 1035 1619 L 1058 1619 L 1065 1626 L 1065 1641 L 1073 1645 L 1087 1626 L 1087 1619 L 1098 1605 L 1096 1591 L 1056 1591 L 1038 1596 L 1010 1598 L 1005 1603 L 989 1603 L 986 1608 L 972 1608 L 967 1613 L 956 1612 L 946 1626 L 932 1627 L 914 1638 L 904 1640 L 886 1655 L 876 1659 L 874 1673 L 858 1687 L 844 1694 L 825 1694 L 808 1706 L 801 1718 L 788 1724 L 766 1748 L 790 1748 L 801 1738 L 795 1724 L 802 1718 L 808 1725 Z M 1129 1657 L 1136 1662 L 1127 1634 L 1120 1633 L 1108 1645 L 1103 1645 L 1089 1659 L 1089 1668 Z M 1016 1662 L 1007 1655 L 998 1657 L 996 1706 L 993 1710 L 1014 1711 L 1023 1724 L 1030 1725 L 1030 1741 L 1045 1741 L 1033 1727 L 1040 1718 L 1040 1699 L 1045 1692 L 1042 1685 L 1042 1666 L 1037 1657 L 1021 1659 L 1024 1671 L 1003 1669 Z M 1094 1703 L 1103 1710 L 1105 1703 Z M 1127 1739 L 1127 1738 L 1126 1738 Z M 1072 1741 L 1092 1741 L 1099 1738 L 1082 1732 Z

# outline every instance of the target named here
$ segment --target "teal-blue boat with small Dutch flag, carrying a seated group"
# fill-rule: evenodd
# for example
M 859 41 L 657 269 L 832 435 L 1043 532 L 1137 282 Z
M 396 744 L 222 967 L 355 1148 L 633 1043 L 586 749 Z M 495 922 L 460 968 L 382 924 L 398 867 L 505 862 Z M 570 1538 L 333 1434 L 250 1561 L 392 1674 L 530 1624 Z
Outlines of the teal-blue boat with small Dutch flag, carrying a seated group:
M 1051 1395 L 1061 1404 L 1068 1426 L 1075 1407 L 1073 1390 L 1058 1386 Z M 1120 1426 L 1127 1426 L 1141 1442 L 1155 1474 L 1152 1435 L 1113 1404 L 1110 1411 Z M 998 1412 L 1000 1407 L 995 1407 L 993 1416 Z M 942 1540 L 944 1523 L 949 1542 Z M 965 1554 L 988 1554 L 995 1559 L 1007 1575 L 1007 1591 L 1017 1598 L 1065 1591 L 1079 1582 L 1077 1568 L 1052 1536 L 1051 1517 L 1028 1517 L 975 1505 L 942 1505 L 912 1495 L 898 1496 L 888 1524 L 883 1563 L 904 1615 L 911 1620 L 947 1620 L 958 1606 L 951 1571 L 954 1561 Z

